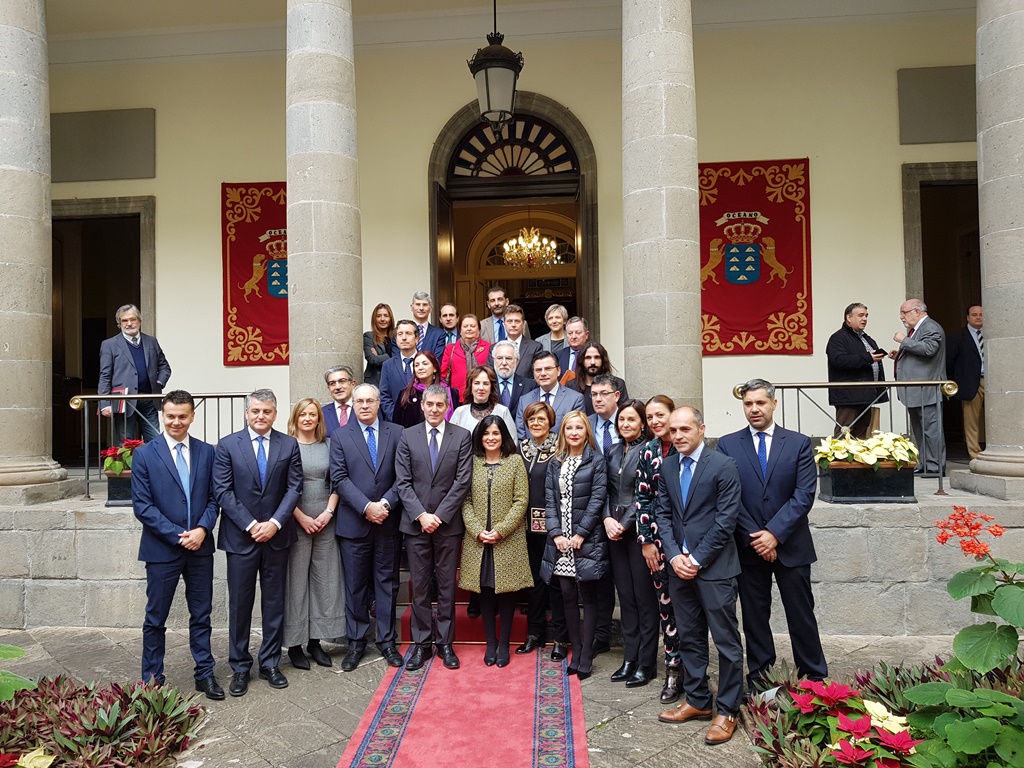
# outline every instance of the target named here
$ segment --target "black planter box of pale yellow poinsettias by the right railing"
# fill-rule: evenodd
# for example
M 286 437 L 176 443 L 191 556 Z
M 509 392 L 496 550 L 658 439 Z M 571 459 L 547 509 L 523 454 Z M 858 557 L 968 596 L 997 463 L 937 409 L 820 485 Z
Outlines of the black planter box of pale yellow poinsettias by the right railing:
M 849 432 L 825 437 L 814 452 L 818 498 L 833 504 L 914 504 L 918 449 L 903 435 L 876 431 L 866 440 Z

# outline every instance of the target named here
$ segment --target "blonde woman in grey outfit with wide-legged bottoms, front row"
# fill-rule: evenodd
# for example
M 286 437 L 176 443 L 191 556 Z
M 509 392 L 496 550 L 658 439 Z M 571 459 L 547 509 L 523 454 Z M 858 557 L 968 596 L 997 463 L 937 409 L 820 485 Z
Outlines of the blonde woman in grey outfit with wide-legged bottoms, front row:
M 330 440 L 316 400 L 305 397 L 295 403 L 288 433 L 299 441 L 302 498 L 293 513 L 298 538 L 288 554 L 285 645 L 292 666 L 308 670 L 302 643 L 316 664 L 331 667 L 321 640 L 337 641 L 345 634 L 345 593 L 334 538 L 338 495 L 331 489 Z

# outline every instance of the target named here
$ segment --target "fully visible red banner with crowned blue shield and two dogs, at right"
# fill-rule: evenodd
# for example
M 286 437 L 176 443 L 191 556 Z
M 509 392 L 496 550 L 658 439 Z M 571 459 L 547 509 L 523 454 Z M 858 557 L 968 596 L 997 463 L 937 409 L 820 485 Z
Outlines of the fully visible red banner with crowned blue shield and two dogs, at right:
M 703 353 L 811 354 L 808 160 L 700 163 Z

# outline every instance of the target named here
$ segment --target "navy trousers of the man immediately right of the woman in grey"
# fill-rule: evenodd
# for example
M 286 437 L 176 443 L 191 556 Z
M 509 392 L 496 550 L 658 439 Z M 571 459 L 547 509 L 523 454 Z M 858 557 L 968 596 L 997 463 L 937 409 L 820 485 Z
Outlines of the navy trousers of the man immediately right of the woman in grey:
M 398 636 L 395 606 L 401 534 L 372 525 L 362 539 L 338 539 L 345 577 L 345 636 L 349 647 L 366 647 L 370 602 L 377 604 L 377 647 L 394 646 Z

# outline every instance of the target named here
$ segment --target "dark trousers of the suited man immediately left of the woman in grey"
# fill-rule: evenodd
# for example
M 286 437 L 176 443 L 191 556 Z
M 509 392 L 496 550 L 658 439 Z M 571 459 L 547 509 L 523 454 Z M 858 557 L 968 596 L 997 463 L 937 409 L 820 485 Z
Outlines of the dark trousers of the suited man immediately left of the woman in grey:
M 285 588 L 288 580 L 288 550 L 257 544 L 252 552 L 227 553 L 227 634 L 232 672 L 249 672 L 249 652 L 256 580 L 259 579 L 260 611 L 263 614 L 263 643 L 259 649 L 261 670 L 281 664 L 285 642 Z

